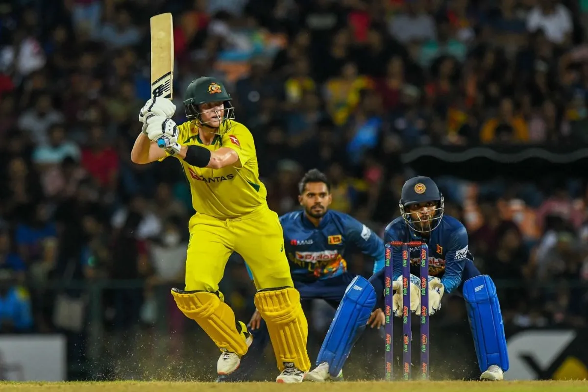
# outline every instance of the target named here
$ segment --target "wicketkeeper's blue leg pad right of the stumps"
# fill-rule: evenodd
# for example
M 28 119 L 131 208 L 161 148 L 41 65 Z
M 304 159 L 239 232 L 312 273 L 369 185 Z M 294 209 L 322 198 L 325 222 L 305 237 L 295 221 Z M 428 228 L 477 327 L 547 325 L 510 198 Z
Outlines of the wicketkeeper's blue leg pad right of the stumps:
M 496 286 L 488 275 L 480 275 L 463 283 L 467 318 L 474 338 L 480 371 L 490 365 L 509 370 L 505 326 L 496 295 Z

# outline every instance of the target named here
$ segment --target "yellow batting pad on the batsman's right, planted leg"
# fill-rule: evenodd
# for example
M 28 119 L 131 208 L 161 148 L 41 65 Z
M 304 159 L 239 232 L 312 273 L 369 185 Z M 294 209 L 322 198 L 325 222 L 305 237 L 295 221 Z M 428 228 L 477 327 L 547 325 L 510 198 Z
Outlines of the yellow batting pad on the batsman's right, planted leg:
M 255 294 L 255 307 L 265 320 L 280 371 L 295 366 L 310 370 L 306 351 L 308 323 L 300 305 L 300 293 L 292 287 Z

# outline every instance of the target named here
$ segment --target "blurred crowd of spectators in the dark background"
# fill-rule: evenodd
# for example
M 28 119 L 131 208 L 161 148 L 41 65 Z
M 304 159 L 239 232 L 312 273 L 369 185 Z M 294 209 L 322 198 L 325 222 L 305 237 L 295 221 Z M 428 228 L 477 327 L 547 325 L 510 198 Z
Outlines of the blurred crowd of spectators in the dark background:
M 180 165 L 130 159 L 161 12 L 174 16 L 176 122 L 192 79 L 225 81 L 280 214 L 317 167 L 332 209 L 381 233 L 416 174 L 406 150 L 588 140 L 588 1 L 2 0 L 0 333 L 83 329 L 83 282 L 103 279 L 145 282 L 103 297 L 104 323 L 132 329 L 156 317 L 153 287 L 183 281 Z M 586 182 L 446 175 L 446 213 L 466 223 L 477 266 L 510 281 L 506 323 L 586 326 Z M 348 260 L 368 275 L 371 262 Z M 46 289 L 56 281 L 82 285 Z M 238 255 L 224 282 L 248 318 Z

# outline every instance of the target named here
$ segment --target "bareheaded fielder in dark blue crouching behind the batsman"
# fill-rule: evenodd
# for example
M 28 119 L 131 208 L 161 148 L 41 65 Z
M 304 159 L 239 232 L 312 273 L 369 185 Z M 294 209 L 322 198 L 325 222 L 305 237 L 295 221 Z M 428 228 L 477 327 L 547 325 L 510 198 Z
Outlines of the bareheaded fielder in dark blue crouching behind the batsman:
M 330 183 L 319 170 L 309 170 L 300 180 L 298 201 L 303 210 L 280 217 L 294 287 L 300 292 L 301 301 L 322 299 L 336 309 L 355 277 L 347 271 L 345 251 L 348 246 L 354 245 L 373 257 L 373 271 L 376 272 L 384 266 L 384 243 L 358 220 L 329 210 Z M 370 325 L 380 327 L 384 320 L 384 315 L 378 314 Z M 248 380 L 253 364 L 263 354 L 269 334 L 258 311 L 248 327 L 253 335 L 248 353 L 243 356 L 238 370 L 217 381 Z

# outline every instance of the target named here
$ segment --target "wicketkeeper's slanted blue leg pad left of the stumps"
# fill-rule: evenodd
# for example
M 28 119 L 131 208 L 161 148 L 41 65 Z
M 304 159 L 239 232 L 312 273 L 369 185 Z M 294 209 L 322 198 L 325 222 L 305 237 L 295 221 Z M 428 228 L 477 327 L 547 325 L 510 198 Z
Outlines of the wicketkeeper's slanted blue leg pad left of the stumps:
M 371 283 L 356 276 L 337 308 L 329 331 L 320 347 L 316 364 L 329 363 L 329 373 L 337 377 L 353 345 L 361 336 L 376 304 L 376 292 Z

